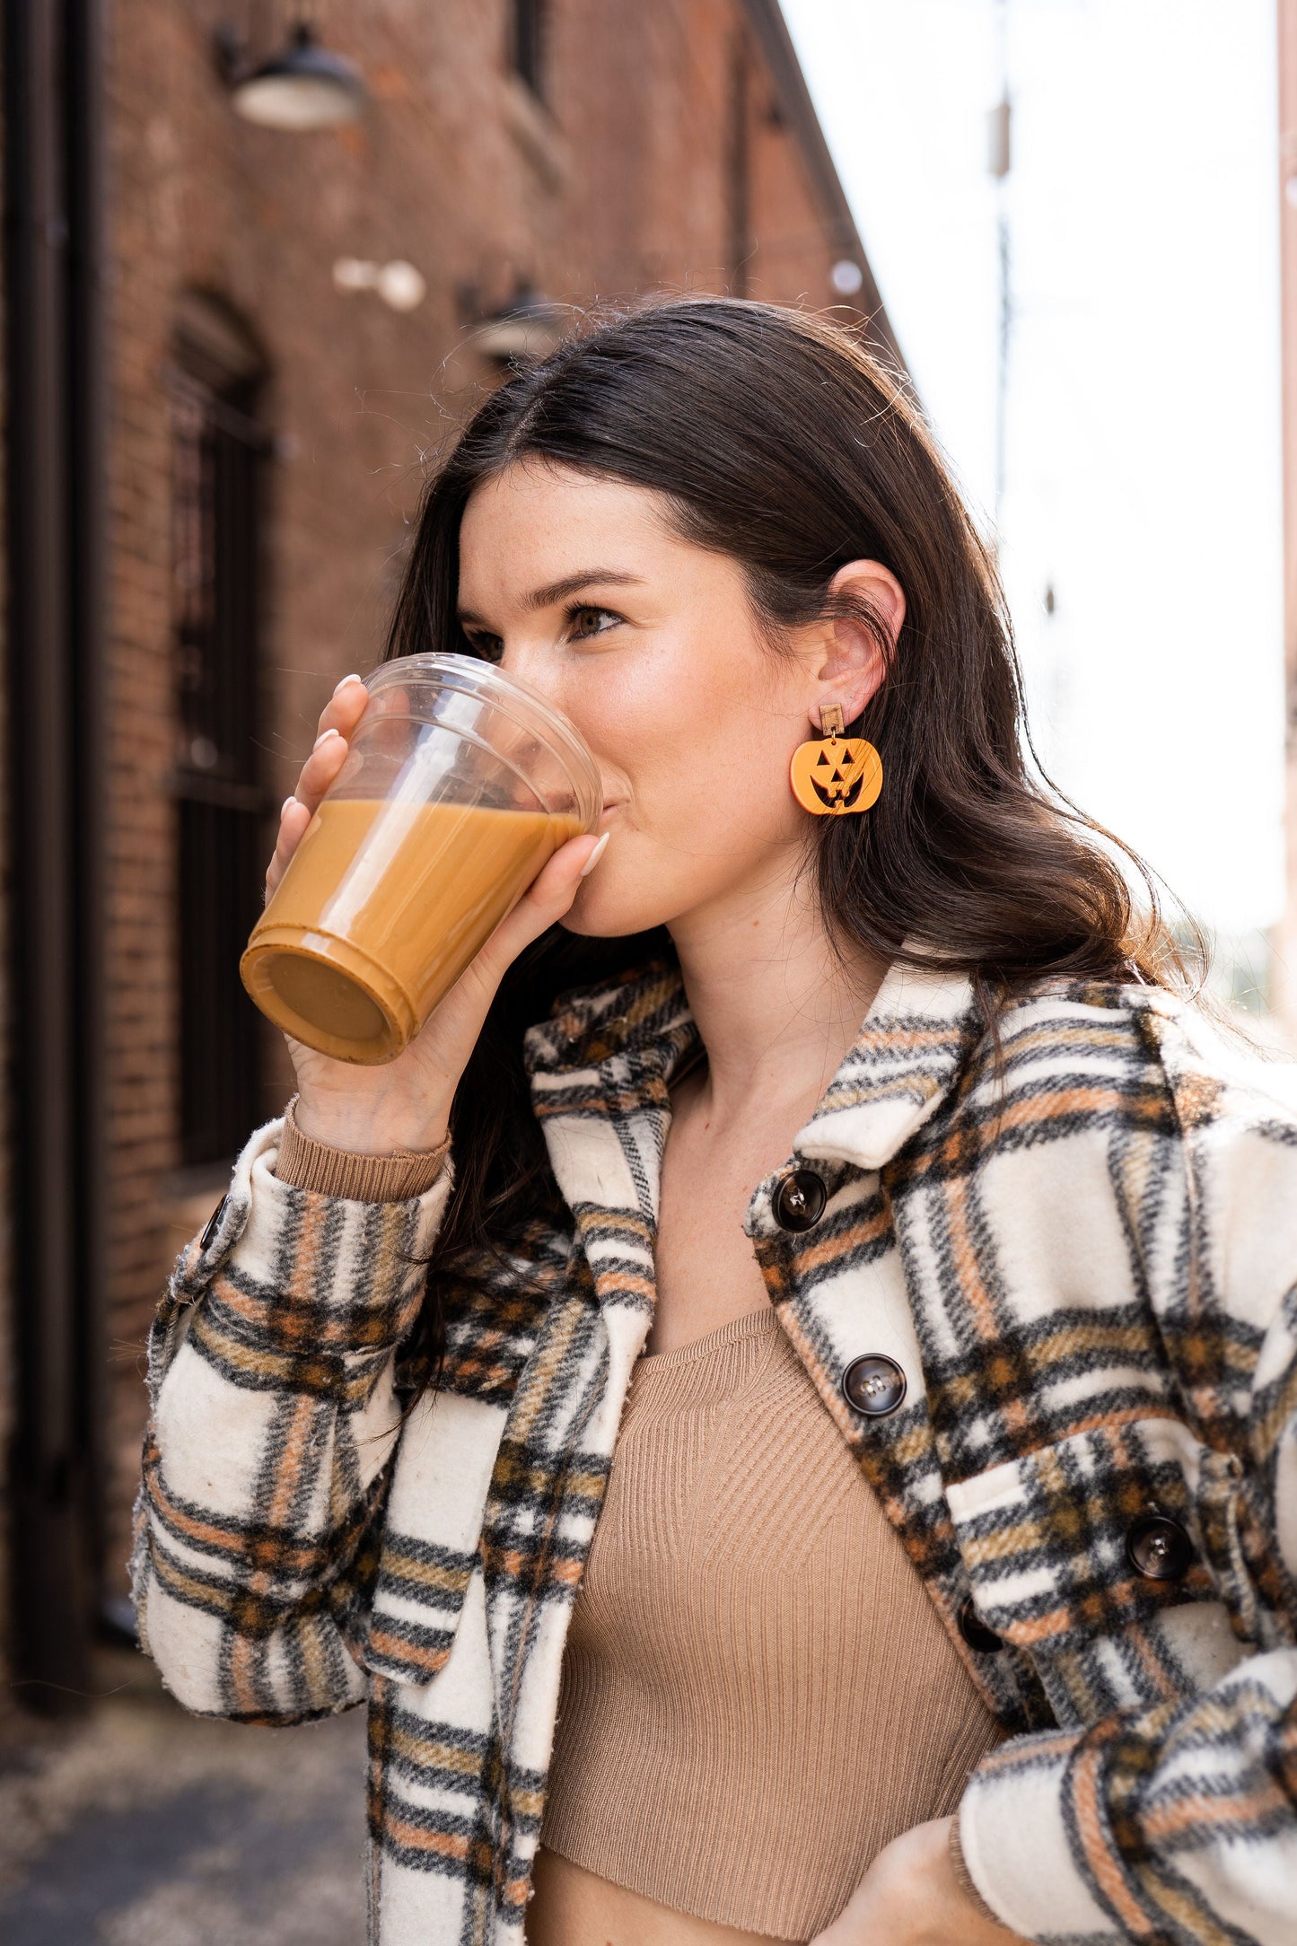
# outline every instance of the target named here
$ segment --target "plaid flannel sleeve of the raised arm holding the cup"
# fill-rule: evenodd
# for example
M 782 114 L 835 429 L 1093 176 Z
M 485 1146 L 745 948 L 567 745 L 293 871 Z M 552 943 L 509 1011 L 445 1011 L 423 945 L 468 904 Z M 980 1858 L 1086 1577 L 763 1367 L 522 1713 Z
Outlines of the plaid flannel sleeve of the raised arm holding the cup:
M 150 1333 L 134 1516 L 140 1642 L 191 1711 L 298 1722 L 364 1701 L 397 1347 L 451 1189 L 364 1203 L 274 1173 L 257 1131 Z

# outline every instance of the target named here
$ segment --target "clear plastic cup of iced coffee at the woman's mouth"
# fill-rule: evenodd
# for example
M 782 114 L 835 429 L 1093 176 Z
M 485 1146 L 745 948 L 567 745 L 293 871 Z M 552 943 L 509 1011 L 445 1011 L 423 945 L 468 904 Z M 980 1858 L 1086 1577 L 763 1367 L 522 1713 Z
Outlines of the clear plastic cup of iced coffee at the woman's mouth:
M 593 831 L 599 767 L 566 716 L 473 656 L 404 656 L 369 703 L 247 942 L 243 985 L 338 1061 L 393 1061 L 544 862 Z

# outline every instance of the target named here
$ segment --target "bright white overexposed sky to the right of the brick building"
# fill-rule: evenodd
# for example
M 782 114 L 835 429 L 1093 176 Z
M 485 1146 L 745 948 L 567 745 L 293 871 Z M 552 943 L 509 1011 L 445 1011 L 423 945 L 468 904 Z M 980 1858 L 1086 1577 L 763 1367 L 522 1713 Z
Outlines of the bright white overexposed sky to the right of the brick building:
M 996 0 L 786 0 L 992 525 Z M 1007 0 L 1001 564 L 1046 767 L 1227 934 L 1281 903 L 1274 0 Z M 1056 613 L 1042 607 L 1056 590 Z

